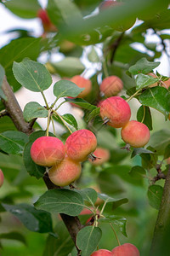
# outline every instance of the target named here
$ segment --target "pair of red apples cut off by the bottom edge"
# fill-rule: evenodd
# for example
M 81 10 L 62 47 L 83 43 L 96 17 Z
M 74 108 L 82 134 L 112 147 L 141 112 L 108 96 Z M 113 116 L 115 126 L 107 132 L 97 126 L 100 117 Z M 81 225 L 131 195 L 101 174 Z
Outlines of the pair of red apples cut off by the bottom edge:
M 112 251 L 100 249 L 91 254 L 91 256 L 139 256 L 139 250 L 132 243 L 124 243 L 115 247 Z

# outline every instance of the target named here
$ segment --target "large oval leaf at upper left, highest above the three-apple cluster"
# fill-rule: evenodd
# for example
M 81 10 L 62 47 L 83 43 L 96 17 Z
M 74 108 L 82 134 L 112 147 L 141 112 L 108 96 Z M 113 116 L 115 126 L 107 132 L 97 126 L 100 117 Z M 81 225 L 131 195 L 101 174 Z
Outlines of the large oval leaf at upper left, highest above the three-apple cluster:
M 52 84 L 48 69 L 37 61 L 24 59 L 20 63 L 14 62 L 13 73 L 15 79 L 28 90 L 41 92 Z

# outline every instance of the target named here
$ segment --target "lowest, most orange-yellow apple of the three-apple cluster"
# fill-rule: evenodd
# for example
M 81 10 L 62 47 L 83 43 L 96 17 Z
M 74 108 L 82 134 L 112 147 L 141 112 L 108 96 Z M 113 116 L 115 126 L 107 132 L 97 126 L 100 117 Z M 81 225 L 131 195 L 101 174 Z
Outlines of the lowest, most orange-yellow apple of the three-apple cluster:
M 71 160 L 68 156 L 58 165 L 52 166 L 48 171 L 48 177 L 57 186 L 65 187 L 80 177 L 82 166 L 79 162 Z

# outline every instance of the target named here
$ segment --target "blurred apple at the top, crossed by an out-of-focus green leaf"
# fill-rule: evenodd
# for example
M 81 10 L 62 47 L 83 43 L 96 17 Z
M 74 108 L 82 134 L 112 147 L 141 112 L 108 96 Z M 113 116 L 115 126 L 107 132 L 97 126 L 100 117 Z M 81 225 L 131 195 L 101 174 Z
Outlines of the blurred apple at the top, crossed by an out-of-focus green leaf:
M 122 6 L 124 3 L 122 2 L 116 2 L 115 0 L 106 0 L 103 1 L 100 6 L 99 6 L 99 10 L 102 11 L 104 9 L 109 9 L 111 7 L 117 7 L 117 6 Z M 135 18 L 131 18 L 129 20 L 126 20 L 122 22 L 122 24 L 120 24 L 119 26 L 114 26 L 114 28 L 119 31 L 119 32 L 124 32 L 127 29 L 129 29 L 130 27 L 132 27 L 135 23 L 136 19 Z

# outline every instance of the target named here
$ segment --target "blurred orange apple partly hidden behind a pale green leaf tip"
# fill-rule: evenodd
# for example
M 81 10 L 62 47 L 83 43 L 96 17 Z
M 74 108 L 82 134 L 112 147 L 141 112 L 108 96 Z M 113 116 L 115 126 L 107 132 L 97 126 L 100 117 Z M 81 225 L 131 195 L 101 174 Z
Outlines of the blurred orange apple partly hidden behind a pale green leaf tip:
M 71 78 L 71 82 L 77 84 L 77 86 L 80 88 L 84 88 L 84 90 L 82 90 L 82 92 L 77 96 L 78 98 L 84 98 L 85 96 L 88 96 L 92 90 L 92 82 L 90 79 L 84 79 L 77 75 Z

